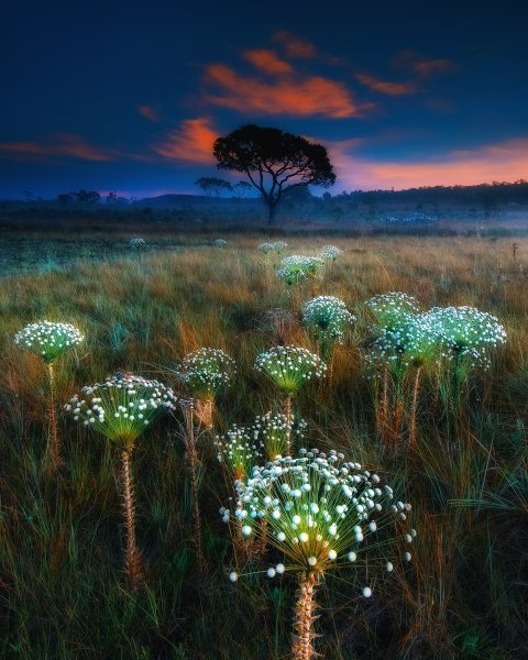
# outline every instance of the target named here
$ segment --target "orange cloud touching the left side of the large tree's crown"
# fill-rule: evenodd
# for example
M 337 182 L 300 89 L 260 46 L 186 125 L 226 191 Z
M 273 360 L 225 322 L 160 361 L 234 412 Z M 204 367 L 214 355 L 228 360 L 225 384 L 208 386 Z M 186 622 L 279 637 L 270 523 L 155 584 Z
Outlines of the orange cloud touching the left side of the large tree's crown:
M 219 134 L 211 128 L 210 119 L 199 117 L 183 121 L 176 131 L 170 131 L 164 144 L 154 147 L 165 158 L 186 163 L 211 164 L 212 144 Z

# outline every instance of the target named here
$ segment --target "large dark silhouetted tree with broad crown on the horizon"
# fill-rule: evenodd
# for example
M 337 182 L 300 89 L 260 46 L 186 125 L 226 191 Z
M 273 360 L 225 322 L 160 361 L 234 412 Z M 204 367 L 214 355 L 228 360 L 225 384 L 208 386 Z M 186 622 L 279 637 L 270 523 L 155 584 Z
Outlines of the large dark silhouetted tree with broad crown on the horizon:
M 279 129 L 246 124 L 226 138 L 218 138 L 212 152 L 219 168 L 245 174 L 261 193 L 270 224 L 286 190 L 336 183 L 327 150 L 321 144 Z

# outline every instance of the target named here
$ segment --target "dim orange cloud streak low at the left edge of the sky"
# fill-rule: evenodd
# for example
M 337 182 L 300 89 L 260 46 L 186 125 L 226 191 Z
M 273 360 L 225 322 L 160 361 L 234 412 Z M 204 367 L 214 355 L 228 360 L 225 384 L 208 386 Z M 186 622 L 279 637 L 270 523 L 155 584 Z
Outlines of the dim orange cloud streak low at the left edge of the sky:
M 42 160 L 72 157 L 82 161 L 114 161 L 117 154 L 109 150 L 88 144 L 80 135 L 61 133 L 46 142 L 3 142 L 0 143 L 0 157 L 22 157 Z

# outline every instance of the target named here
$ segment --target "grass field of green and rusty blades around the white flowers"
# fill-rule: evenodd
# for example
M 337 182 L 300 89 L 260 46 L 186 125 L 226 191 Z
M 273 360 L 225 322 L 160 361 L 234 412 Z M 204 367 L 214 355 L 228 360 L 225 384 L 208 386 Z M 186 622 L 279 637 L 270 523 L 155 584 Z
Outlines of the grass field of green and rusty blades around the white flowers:
M 519 659 L 528 619 L 528 239 L 286 239 L 287 254 L 343 250 L 323 275 L 287 287 L 260 237 L 156 240 L 130 254 L 75 252 L 74 242 L 35 237 L 33 248 L 61 267 L 4 268 L 0 288 L 0 654 L 21 659 L 256 660 L 289 657 L 295 580 L 270 580 L 264 558 L 228 575 L 237 558 L 218 513 L 232 488 L 212 435 L 278 408 L 280 396 L 253 369 L 280 339 L 266 316 L 293 314 L 282 339 L 316 350 L 300 308 L 316 295 L 344 300 L 356 316 L 339 345 L 330 385 L 309 383 L 295 399 L 307 421 L 305 446 L 336 449 L 397 485 L 417 529 L 409 570 L 361 596 L 353 565 L 329 571 L 318 594 L 316 649 L 328 660 L 378 658 Z M 119 245 L 118 245 L 119 243 Z M 78 246 L 78 243 L 76 243 Z M 40 245 L 35 248 L 35 245 Z M 118 245 L 118 246 L 117 246 Z M 177 246 L 177 250 L 173 248 Z M 20 253 L 19 253 L 20 254 Z M 33 255 L 34 253 L 32 253 Z M 92 258 L 95 257 L 97 258 Z M 38 260 L 36 260 L 41 263 Z M 44 268 L 46 271 L 46 268 Z M 474 371 L 455 415 L 442 384 L 424 378 L 417 441 L 408 424 L 380 428 L 380 393 L 366 377 L 370 324 L 364 301 L 404 292 L 421 308 L 469 305 L 507 331 L 490 371 Z M 46 371 L 13 344 L 25 324 L 48 319 L 78 327 L 84 344 L 56 364 L 58 432 L 65 462 L 43 470 Z M 119 462 L 102 437 L 63 413 L 84 385 L 116 371 L 155 377 L 186 393 L 169 371 L 200 346 L 238 365 L 218 398 L 213 433 L 198 442 L 199 498 L 207 572 L 197 572 L 193 492 L 182 416 L 164 417 L 134 452 L 138 544 L 144 586 L 127 588 Z M 376 394 L 377 392 L 377 394 Z M 408 406 L 408 398 L 404 405 Z M 118 485 L 118 487 L 117 487 Z M 246 574 L 246 575 L 245 575 Z

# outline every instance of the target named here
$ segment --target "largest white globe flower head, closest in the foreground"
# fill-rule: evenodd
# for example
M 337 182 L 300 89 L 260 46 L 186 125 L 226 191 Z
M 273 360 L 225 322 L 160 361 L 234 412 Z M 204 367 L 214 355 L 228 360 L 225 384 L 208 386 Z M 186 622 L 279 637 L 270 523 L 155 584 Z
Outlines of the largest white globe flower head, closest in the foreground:
M 258 537 L 265 522 L 270 544 L 287 558 L 270 576 L 285 570 L 322 573 L 348 562 L 371 570 L 382 561 L 392 572 L 398 561 L 410 560 L 408 550 L 391 561 L 384 552 L 393 541 L 411 543 L 416 536 L 408 528 L 409 504 L 395 501 L 391 486 L 342 454 L 317 449 L 299 454 L 255 466 L 237 484 L 233 514 L 222 509 L 223 519 L 234 516 L 249 538 Z M 364 595 L 371 593 L 369 587 Z

